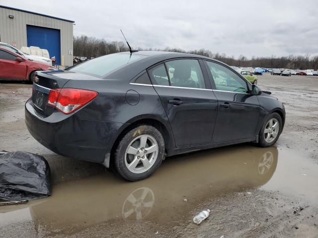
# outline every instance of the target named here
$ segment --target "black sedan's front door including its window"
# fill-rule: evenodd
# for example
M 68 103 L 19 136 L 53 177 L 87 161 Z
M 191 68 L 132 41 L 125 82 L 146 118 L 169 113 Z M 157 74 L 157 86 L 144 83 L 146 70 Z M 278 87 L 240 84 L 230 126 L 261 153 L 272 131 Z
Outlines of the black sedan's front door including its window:
M 212 61 L 205 65 L 218 99 L 213 143 L 254 138 L 260 113 L 257 96 L 250 94 L 247 82 L 231 68 Z

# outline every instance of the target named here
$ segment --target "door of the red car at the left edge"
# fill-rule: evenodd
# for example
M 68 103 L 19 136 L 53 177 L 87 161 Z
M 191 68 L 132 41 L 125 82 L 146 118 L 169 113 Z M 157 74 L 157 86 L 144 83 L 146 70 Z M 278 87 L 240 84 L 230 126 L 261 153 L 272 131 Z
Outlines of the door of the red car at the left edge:
M 0 79 L 25 79 L 26 64 L 16 58 L 14 54 L 0 49 Z

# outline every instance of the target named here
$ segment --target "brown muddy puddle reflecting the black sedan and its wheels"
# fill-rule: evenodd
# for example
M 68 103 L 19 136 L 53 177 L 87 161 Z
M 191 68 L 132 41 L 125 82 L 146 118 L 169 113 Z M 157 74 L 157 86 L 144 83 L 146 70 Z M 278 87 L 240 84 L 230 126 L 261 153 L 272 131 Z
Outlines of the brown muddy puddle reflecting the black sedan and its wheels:
M 107 172 L 59 183 L 48 198 L 0 207 L 0 229 L 31 221 L 35 229 L 53 235 L 114 221 L 191 223 L 192 214 L 209 199 L 231 194 L 235 200 L 255 191 L 279 191 L 317 207 L 317 181 L 317 162 L 291 150 L 224 147 L 167 158 L 151 178 L 138 182 Z M 219 208 L 226 209 L 226 199 L 220 201 Z

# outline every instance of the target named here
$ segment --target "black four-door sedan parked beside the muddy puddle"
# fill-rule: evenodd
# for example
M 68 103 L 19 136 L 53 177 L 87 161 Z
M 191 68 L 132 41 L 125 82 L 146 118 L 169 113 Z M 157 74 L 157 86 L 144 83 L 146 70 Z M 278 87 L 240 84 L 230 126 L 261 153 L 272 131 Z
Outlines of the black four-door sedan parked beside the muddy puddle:
M 230 66 L 168 52 L 117 53 L 38 72 L 29 132 L 50 150 L 145 179 L 165 156 L 252 141 L 273 145 L 285 109 Z

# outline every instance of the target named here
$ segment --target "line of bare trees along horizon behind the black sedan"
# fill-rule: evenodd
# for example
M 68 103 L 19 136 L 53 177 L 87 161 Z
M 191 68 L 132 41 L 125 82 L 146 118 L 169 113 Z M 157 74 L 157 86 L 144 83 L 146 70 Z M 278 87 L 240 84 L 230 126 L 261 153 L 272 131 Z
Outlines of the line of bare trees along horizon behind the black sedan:
M 129 51 L 126 42 L 107 42 L 104 39 L 96 39 L 95 37 L 80 36 L 73 38 L 73 49 L 74 56 L 79 57 L 99 57 L 108 54 Z M 180 48 L 169 48 L 165 49 L 142 49 L 137 48 L 139 51 L 169 51 L 169 52 L 181 52 L 190 53 L 200 56 L 206 56 L 220 60 L 229 65 L 241 66 L 241 67 L 266 67 L 266 68 L 293 68 L 293 69 L 318 69 L 318 56 L 311 57 L 309 54 L 305 56 L 282 56 L 282 57 L 255 57 L 247 59 L 245 56 L 240 55 L 239 58 L 235 59 L 234 56 L 229 57 L 220 53 L 212 53 L 210 50 L 200 49 L 185 51 Z

